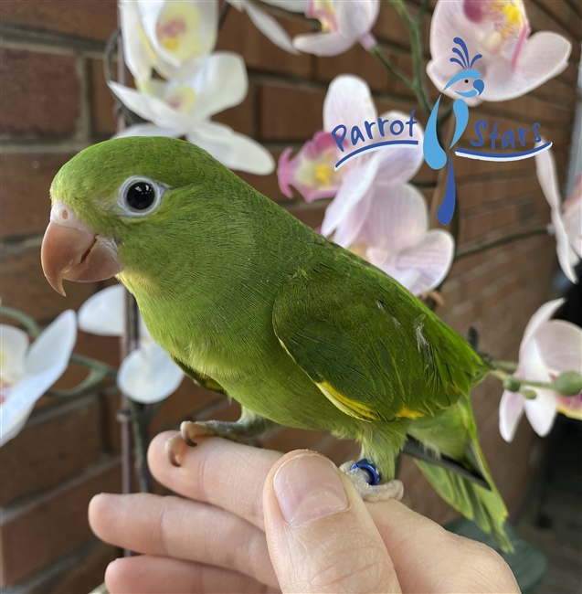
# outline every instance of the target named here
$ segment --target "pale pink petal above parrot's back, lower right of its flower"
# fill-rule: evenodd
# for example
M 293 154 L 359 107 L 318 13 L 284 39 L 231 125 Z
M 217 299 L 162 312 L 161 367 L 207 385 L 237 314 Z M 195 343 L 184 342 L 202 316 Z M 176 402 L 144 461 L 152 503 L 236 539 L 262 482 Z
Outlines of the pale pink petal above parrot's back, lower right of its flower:
M 438 287 L 449 273 L 454 251 L 455 241 L 449 231 L 432 229 L 418 245 L 404 249 L 397 255 L 397 270 L 413 272 L 415 275 L 414 281 L 400 282 L 413 295 Z

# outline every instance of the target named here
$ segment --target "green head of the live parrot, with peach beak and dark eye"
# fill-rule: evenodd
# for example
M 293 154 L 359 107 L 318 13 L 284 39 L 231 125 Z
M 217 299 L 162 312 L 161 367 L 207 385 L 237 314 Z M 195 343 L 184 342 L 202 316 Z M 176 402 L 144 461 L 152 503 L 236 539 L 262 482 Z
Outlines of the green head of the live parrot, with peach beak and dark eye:
M 81 151 L 50 188 L 41 249 L 48 282 L 64 295 L 63 279 L 103 281 L 164 260 L 164 249 L 187 236 L 186 220 L 192 234 L 197 189 L 216 171 L 209 154 L 174 138 L 120 138 Z

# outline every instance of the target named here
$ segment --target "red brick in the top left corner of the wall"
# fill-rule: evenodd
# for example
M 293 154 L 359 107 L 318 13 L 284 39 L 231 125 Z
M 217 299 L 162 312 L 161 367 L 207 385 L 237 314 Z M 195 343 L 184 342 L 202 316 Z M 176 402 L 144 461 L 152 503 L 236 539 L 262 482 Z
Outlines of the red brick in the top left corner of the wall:
M 44 31 L 106 41 L 117 28 L 115 0 L 5 0 L 2 19 Z

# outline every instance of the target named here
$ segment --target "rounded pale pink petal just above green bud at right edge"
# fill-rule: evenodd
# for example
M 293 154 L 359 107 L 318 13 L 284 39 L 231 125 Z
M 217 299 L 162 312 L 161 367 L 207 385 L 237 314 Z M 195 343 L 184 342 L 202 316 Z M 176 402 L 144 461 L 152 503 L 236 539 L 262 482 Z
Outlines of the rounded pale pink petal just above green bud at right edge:
M 535 342 L 545 366 L 553 373 L 582 374 L 582 329 L 564 320 L 550 320 L 535 332 Z

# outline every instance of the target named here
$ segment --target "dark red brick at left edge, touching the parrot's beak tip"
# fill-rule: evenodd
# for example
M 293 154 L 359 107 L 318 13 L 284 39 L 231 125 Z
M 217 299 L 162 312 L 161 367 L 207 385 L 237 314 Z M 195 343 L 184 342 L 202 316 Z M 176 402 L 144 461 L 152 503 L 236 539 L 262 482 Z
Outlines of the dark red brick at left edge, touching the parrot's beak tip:
M 48 284 L 40 266 L 40 249 L 3 260 L 0 270 L 2 304 L 16 307 L 37 320 L 54 318 L 67 309 L 78 310 L 95 292 L 93 283 L 65 282 L 67 297 Z

